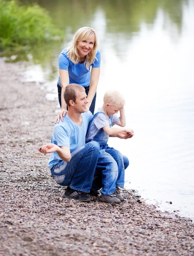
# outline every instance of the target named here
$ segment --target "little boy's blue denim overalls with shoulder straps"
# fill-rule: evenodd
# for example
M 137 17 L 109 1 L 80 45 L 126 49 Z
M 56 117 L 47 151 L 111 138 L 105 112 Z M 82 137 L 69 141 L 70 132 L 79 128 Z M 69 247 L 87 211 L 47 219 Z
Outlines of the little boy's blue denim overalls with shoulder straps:
M 99 113 L 103 113 L 104 115 L 106 115 L 102 111 L 95 113 L 93 119 L 90 121 L 90 124 L 88 126 L 88 131 L 91 123 Z M 112 116 L 110 116 L 110 121 L 110 127 L 112 127 Z M 105 133 L 103 128 L 98 131 L 98 133 L 92 140 L 87 141 L 87 136 L 86 143 L 96 141 L 100 145 L 98 164 L 96 166 L 92 188 L 94 190 L 98 190 L 102 187 L 102 195 L 111 195 L 115 192 L 116 187 L 124 187 L 125 169 L 129 166 L 129 160 L 126 156 L 122 155 L 121 152 L 108 146 L 107 141 L 109 135 Z M 100 168 L 98 168 L 98 166 Z M 102 177 L 102 179 L 100 179 L 102 180 L 102 184 L 100 184 L 99 182 L 99 177 Z

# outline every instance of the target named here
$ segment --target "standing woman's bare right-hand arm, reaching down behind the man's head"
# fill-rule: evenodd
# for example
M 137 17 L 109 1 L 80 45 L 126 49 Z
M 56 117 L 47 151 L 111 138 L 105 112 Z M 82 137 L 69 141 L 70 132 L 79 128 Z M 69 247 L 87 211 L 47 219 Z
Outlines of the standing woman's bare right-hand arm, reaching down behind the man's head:
M 98 80 L 100 76 L 100 67 L 93 67 L 91 71 L 91 76 L 90 76 L 90 90 L 87 96 L 88 99 L 88 108 L 90 108 L 90 105 L 92 104 L 94 95 L 96 93 L 97 85 L 98 85 Z

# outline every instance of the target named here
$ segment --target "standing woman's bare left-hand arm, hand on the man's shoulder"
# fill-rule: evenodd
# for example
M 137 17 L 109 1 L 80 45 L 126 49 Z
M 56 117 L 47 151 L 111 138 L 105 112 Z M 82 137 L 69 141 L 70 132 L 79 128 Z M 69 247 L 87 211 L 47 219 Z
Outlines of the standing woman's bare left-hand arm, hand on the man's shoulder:
M 67 113 L 67 104 L 65 103 L 65 100 L 64 100 L 64 90 L 65 90 L 65 87 L 69 84 L 68 70 L 59 69 L 59 75 L 60 75 L 60 81 L 61 81 L 61 112 L 58 113 L 55 124 L 59 122 L 60 118 L 61 118 L 61 121 L 63 122 L 63 117 Z

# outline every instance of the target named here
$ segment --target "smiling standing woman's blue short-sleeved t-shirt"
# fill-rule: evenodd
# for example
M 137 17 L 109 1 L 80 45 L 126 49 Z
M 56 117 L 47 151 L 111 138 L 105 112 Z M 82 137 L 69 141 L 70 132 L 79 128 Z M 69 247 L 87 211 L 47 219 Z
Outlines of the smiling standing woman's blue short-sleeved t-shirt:
M 101 54 L 97 50 L 96 60 L 90 67 L 100 67 Z M 64 49 L 58 57 L 58 67 L 62 70 L 68 70 L 69 84 L 80 84 L 84 87 L 90 85 L 90 70 L 87 70 L 84 63 L 73 64 L 67 54 L 67 49 Z M 58 77 L 58 84 L 61 86 L 60 76 Z

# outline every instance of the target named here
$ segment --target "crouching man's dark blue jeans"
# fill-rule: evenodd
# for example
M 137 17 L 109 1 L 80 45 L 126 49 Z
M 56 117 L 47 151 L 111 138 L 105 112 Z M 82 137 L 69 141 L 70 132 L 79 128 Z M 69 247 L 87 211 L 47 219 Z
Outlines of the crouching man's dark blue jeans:
M 71 189 L 89 193 L 100 146 L 96 141 L 76 149 L 71 154 L 71 160 L 64 160 L 52 167 L 51 173 L 55 181 L 61 186 L 70 186 Z

